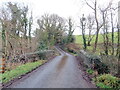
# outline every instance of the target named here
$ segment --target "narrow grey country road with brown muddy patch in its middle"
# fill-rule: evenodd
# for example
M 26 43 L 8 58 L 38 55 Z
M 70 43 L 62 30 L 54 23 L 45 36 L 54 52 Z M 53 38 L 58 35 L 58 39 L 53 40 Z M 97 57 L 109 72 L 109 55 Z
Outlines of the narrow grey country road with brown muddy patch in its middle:
M 33 74 L 13 83 L 10 88 L 94 88 L 82 77 L 75 57 L 57 48 L 61 53 L 39 67 Z

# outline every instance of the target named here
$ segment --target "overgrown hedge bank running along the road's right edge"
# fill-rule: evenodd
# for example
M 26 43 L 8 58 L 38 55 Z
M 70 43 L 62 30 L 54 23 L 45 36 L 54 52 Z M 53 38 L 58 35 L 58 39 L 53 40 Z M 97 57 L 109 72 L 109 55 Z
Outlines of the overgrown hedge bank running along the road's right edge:
M 93 60 L 95 62 L 94 64 L 91 63 L 92 67 L 88 67 L 87 64 L 84 63 L 85 58 L 81 58 L 83 56 L 80 55 L 80 46 L 80 44 L 70 43 L 65 46 L 64 50 L 77 58 L 83 70 L 85 70 L 84 76 L 87 76 L 87 78 L 91 82 L 94 82 L 99 88 L 120 88 L 120 78 L 114 76 L 118 67 L 117 61 L 111 60 L 107 63 L 107 61 L 110 60 L 109 58 L 105 59 L 105 62 L 103 58 L 97 58 L 97 54 L 91 53 L 92 56 L 89 56 L 88 60 Z M 112 62 L 113 64 L 111 64 Z

